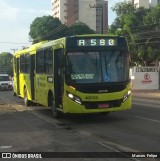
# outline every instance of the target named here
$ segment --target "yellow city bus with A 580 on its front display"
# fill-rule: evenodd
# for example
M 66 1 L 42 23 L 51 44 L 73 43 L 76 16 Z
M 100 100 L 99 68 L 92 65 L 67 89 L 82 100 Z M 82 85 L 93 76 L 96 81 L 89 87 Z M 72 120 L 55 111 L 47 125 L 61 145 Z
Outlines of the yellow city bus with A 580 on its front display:
M 122 36 L 77 35 L 44 41 L 14 54 L 14 95 L 60 113 L 131 108 L 130 55 Z

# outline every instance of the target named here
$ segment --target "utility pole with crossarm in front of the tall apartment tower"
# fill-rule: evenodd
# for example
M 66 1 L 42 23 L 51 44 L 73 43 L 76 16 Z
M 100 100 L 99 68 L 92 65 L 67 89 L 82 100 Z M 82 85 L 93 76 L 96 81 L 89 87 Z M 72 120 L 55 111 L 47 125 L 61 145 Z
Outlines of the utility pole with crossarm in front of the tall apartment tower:
M 103 34 L 103 2 L 101 0 L 98 0 L 94 5 L 89 4 L 89 7 L 95 8 L 95 9 L 98 9 L 98 8 L 101 9 L 101 33 Z M 97 11 L 96 11 L 96 14 L 97 14 Z

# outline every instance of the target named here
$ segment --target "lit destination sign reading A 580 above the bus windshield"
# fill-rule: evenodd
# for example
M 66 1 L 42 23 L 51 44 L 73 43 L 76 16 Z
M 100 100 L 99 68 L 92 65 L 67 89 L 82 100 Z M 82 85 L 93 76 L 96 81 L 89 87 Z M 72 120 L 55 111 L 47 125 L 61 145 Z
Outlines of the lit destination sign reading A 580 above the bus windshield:
M 77 40 L 78 46 L 117 46 L 117 39 L 115 38 L 87 38 Z

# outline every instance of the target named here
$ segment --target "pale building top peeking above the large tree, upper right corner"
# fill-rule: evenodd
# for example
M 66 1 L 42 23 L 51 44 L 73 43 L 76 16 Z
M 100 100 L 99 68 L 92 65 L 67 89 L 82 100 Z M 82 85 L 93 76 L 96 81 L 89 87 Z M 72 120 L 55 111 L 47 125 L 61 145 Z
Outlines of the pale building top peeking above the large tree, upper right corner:
M 137 8 L 139 8 L 139 7 L 144 7 L 144 8 L 155 7 L 158 3 L 160 3 L 160 0 L 129 0 L 129 1 L 134 3 Z

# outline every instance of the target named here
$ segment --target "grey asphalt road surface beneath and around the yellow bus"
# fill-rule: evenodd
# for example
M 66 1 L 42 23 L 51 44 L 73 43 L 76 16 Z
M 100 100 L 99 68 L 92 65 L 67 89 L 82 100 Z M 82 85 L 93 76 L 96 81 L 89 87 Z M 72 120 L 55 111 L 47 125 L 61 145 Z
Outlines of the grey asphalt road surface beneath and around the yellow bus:
M 107 116 L 64 116 L 55 120 L 50 109 L 25 107 L 23 100 L 13 97 L 11 91 L 0 91 L 0 152 L 157 152 L 160 155 L 160 106 L 154 105 L 154 100 L 139 102 L 133 98 L 131 110 Z M 146 159 L 151 160 L 140 157 L 52 160 Z

